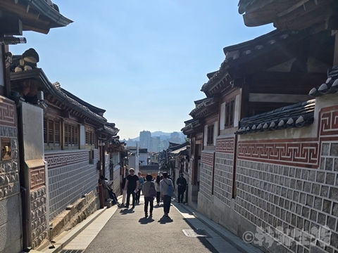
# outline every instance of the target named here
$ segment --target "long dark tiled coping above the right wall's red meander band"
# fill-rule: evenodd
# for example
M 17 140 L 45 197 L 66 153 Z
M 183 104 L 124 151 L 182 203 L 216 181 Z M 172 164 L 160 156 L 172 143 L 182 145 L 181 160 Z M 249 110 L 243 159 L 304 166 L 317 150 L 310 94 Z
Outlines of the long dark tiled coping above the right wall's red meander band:
M 235 134 L 308 126 L 313 123 L 314 110 L 315 99 L 245 117 L 239 122 L 239 129 Z

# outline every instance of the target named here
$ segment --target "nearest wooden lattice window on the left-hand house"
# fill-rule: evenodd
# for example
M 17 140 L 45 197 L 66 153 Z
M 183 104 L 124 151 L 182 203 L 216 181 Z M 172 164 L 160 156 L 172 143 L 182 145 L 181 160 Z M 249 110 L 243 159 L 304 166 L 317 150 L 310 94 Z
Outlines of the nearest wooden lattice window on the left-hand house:
M 44 117 L 44 145 L 61 145 L 61 120 Z

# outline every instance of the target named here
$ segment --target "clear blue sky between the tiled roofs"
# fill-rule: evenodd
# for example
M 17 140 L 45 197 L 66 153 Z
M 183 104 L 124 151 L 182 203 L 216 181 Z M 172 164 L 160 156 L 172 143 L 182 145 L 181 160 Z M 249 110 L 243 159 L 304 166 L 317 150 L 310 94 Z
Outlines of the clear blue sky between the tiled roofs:
M 74 22 L 49 34 L 24 32 L 51 82 L 99 108 L 120 129 L 180 131 L 194 100 L 205 98 L 206 74 L 223 48 L 273 30 L 246 27 L 237 0 L 54 1 Z

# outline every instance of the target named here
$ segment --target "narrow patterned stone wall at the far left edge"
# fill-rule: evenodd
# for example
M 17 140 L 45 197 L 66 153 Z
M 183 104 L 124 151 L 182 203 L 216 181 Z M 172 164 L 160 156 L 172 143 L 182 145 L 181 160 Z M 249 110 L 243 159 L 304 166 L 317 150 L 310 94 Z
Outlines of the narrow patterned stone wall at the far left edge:
M 22 212 L 18 167 L 18 129 L 15 103 L 0 96 L 0 144 L 9 156 L 0 160 L 0 252 L 19 252 L 23 247 Z

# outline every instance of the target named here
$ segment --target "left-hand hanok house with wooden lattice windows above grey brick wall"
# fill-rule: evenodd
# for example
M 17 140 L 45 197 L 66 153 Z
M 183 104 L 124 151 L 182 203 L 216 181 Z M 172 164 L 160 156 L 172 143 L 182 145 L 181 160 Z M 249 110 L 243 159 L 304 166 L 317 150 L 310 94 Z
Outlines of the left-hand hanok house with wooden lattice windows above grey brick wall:
M 47 230 L 49 239 L 62 231 L 59 215 L 71 219 L 68 206 L 84 205 L 82 218 L 96 211 L 99 174 L 109 177 L 110 169 L 104 143 L 119 130 L 107 123 L 105 110 L 52 84 L 42 69 L 11 72 L 11 89 L 18 101 L 23 216 L 37 247 Z

